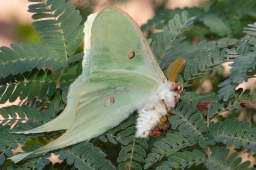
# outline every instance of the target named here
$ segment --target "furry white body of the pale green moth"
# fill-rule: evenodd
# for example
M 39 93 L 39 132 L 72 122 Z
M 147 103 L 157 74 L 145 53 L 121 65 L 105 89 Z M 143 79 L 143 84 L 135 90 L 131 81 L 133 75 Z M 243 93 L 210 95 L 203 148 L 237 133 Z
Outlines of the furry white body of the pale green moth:
M 171 108 L 174 108 L 180 98 L 180 87 L 174 82 L 165 82 L 159 86 L 149 101 L 138 109 L 138 119 L 136 124 L 136 137 L 148 137 L 150 131 L 159 123 L 161 117 L 168 114 Z

